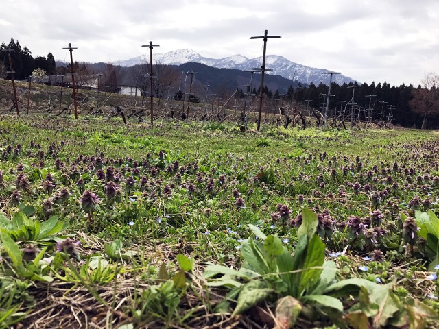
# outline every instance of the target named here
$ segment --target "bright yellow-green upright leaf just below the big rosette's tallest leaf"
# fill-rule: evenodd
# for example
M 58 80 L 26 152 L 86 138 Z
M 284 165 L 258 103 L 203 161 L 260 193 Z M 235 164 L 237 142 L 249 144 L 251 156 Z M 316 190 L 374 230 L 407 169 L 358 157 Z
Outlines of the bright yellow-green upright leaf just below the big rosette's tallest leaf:
M 305 255 L 305 263 L 300 278 L 300 289 L 307 290 L 318 283 L 320 273 L 323 269 L 309 269 L 311 267 L 322 267 L 324 263 L 324 249 L 325 245 L 320 239 L 320 236 L 314 234 L 311 240 L 309 240 L 307 247 L 307 254 Z

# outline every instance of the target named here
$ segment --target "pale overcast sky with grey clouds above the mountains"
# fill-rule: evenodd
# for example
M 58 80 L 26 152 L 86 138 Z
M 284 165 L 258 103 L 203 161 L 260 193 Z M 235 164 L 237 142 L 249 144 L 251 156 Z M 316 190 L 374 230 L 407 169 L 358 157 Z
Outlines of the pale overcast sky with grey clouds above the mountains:
M 438 0 L 1 0 L 0 42 L 78 62 L 193 49 L 204 57 L 267 54 L 360 82 L 417 85 L 439 71 Z

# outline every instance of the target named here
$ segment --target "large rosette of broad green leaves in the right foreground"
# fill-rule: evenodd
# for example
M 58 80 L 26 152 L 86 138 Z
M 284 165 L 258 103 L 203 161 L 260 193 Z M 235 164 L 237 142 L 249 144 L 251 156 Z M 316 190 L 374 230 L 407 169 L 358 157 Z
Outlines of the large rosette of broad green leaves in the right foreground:
M 230 300 L 237 301 L 233 315 L 258 304 L 263 307 L 263 301 L 276 303 L 276 320 L 285 324 L 283 328 L 293 328 L 298 317 L 315 321 L 326 316 L 338 328 L 422 328 L 420 322 L 426 317 L 438 319 L 423 303 L 403 304 L 392 293 L 394 283 L 382 285 L 361 278 L 337 281 L 335 263 L 324 260 L 325 245 L 315 234 L 317 226 L 316 214 L 304 209 L 292 256 L 277 236 L 265 236 L 249 224 L 258 239 L 250 236 L 241 244 L 241 268 L 209 265 L 204 271 L 209 286 L 231 287 L 215 311 L 230 312 Z M 347 300 L 344 305 L 342 301 Z

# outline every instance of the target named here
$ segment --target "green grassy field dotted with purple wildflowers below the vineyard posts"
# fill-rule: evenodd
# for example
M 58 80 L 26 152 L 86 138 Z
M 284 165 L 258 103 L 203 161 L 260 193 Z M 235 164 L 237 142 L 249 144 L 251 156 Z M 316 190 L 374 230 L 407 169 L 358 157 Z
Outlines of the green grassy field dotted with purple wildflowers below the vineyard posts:
M 0 328 L 438 328 L 438 136 L 2 115 Z

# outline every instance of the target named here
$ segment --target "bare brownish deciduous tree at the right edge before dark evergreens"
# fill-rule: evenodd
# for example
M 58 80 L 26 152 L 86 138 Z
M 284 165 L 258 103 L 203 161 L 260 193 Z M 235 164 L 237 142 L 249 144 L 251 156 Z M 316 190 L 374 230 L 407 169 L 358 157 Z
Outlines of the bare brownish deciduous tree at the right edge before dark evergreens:
M 410 101 L 412 110 L 423 116 L 423 124 L 420 129 L 427 127 L 427 121 L 431 117 L 439 115 L 439 75 L 430 72 L 425 74 L 418 88 L 413 90 L 413 99 Z

